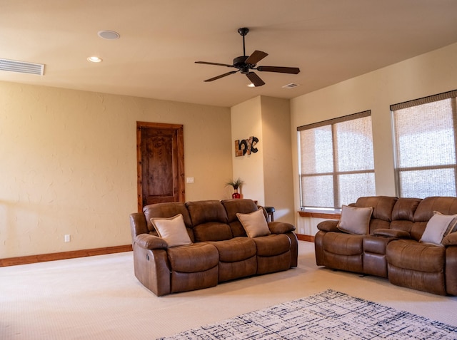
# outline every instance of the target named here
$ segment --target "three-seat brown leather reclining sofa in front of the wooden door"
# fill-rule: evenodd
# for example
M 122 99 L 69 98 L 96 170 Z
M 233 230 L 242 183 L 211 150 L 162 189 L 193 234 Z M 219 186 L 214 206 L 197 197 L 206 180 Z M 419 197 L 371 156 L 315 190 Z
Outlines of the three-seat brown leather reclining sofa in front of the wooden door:
M 267 222 L 269 235 L 246 235 L 236 214 L 257 210 L 253 200 L 246 199 L 146 205 L 143 212 L 130 215 L 136 277 L 161 296 L 296 267 L 298 242 L 293 225 Z M 169 247 L 151 218 L 179 214 L 191 244 Z

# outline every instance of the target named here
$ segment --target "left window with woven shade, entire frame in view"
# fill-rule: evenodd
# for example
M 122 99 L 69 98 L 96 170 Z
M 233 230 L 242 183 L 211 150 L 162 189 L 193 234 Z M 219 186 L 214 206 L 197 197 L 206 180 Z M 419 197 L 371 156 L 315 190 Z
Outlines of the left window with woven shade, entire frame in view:
M 302 209 L 375 195 L 371 111 L 297 128 Z

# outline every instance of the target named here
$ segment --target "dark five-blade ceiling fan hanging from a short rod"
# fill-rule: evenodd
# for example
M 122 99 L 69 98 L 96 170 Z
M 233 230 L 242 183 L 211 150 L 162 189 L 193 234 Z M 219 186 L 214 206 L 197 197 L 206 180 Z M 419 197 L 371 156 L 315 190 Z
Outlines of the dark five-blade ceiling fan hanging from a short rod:
M 244 45 L 244 36 L 248 34 L 249 29 L 243 27 L 238 29 L 238 33 L 243 36 L 243 56 L 238 56 L 233 59 L 233 64 L 229 65 L 227 63 L 211 63 L 209 61 L 196 61 L 196 63 L 204 63 L 207 65 L 216 65 L 216 66 L 226 66 L 230 68 L 238 68 L 237 71 L 230 71 L 214 78 L 206 79 L 206 81 L 216 81 L 217 79 L 224 78 L 226 76 L 230 76 L 233 73 L 241 72 L 248 77 L 249 81 L 253 84 L 253 86 L 262 86 L 265 84 L 261 80 L 256 73 L 252 72 L 251 70 L 257 70 L 260 72 L 278 72 L 278 73 L 291 73 L 291 74 L 298 74 L 300 72 L 300 68 L 298 67 L 283 67 L 283 66 L 256 66 L 256 64 L 261 61 L 263 58 L 268 56 L 268 53 L 262 51 L 253 51 L 251 56 L 246 56 L 246 48 Z

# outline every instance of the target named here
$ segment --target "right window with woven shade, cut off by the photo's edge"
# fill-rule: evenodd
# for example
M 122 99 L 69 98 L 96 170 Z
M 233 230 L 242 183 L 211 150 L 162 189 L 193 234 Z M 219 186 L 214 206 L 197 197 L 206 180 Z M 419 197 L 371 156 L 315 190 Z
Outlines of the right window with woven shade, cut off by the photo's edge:
M 399 197 L 456 196 L 456 96 L 391 105 Z

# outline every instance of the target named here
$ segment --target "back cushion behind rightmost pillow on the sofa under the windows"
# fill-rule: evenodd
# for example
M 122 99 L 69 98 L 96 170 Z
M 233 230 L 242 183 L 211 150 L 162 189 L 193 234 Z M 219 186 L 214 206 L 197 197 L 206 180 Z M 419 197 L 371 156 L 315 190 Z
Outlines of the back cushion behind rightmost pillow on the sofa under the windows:
M 456 197 L 426 197 L 419 203 L 413 217 L 413 227 L 411 228 L 411 237 L 419 241 L 423 232 L 426 230 L 427 222 L 433 216 L 433 213 L 441 212 L 445 215 L 457 214 Z

